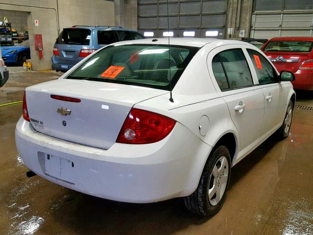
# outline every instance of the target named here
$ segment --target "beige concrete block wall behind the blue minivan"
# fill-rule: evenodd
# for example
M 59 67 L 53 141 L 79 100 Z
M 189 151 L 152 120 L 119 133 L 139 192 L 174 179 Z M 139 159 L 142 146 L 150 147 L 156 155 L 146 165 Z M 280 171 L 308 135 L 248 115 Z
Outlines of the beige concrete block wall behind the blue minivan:
M 114 25 L 114 2 L 107 0 L 58 0 L 59 27 L 56 0 L 1 0 L 0 10 L 26 12 L 33 70 L 51 69 L 53 45 L 64 27 Z M 35 26 L 35 20 L 39 26 Z M 35 34 L 43 36 L 43 59 L 35 50 Z

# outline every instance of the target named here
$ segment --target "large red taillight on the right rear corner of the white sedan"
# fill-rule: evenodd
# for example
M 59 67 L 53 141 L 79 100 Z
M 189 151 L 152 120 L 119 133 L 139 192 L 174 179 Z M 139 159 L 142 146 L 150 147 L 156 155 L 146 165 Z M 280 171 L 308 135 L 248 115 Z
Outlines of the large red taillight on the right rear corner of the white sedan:
M 116 142 L 145 144 L 164 139 L 173 130 L 176 121 L 153 112 L 132 108 Z

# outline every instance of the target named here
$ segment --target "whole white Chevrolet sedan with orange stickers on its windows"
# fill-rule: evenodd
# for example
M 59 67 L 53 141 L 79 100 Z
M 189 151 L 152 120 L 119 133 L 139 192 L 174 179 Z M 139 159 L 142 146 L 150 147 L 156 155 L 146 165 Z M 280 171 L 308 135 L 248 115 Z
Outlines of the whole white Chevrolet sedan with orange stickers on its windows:
M 293 79 L 240 41 L 119 42 L 28 87 L 16 144 L 58 185 L 132 203 L 184 197 L 210 216 L 231 167 L 274 132 L 289 135 Z

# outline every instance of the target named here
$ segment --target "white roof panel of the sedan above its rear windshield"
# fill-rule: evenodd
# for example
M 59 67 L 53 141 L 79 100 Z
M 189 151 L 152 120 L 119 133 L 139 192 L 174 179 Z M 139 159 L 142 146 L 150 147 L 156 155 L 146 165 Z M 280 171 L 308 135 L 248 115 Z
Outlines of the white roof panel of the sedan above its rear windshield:
M 123 41 L 114 43 L 114 46 L 119 45 L 131 45 L 131 44 L 156 44 L 156 45 L 175 45 L 175 46 L 187 46 L 187 47 L 203 47 L 204 45 L 212 42 L 224 42 L 225 44 L 240 44 L 250 45 L 248 43 L 237 40 L 224 40 L 216 38 L 146 38 L 132 41 Z

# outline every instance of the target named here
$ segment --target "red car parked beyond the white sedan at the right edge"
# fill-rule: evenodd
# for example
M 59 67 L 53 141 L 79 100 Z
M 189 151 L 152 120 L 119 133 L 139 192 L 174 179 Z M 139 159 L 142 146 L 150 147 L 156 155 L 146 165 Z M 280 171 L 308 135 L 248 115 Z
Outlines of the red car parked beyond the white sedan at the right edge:
M 261 50 L 278 71 L 295 75 L 294 89 L 313 90 L 313 37 L 277 37 L 268 40 Z

